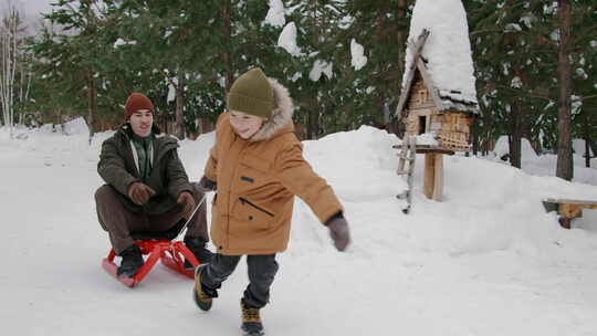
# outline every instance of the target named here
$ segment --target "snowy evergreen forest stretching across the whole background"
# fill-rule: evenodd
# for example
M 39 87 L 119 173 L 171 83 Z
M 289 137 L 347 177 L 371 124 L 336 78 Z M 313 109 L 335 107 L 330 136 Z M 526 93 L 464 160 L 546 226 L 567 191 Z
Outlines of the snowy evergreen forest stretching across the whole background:
M 84 116 L 93 137 L 116 128 L 128 94 L 143 92 L 163 130 L 195 138 L 213 129 L 233 80 L 261 66 L 290 90 L 300 138 L 360 125 L 401 137 L 395 109 L 413 4 L 57 0 L 31 29 L 9 2 L 0 24 L 0 120 L 34 127 Z M 473 153 L 506 135 L 509 160 L 520 167 L 526 138 L 537 153 L 557 154 L 556 175 L 570 180 L 572 139 L 585 140 L 587 167 L 597 151 L 596 1 L 463 4 L 482 112 Z M 289 52 L 280 42 L 293 30 Z M 355 46 L 366 62 L 354 62 Z

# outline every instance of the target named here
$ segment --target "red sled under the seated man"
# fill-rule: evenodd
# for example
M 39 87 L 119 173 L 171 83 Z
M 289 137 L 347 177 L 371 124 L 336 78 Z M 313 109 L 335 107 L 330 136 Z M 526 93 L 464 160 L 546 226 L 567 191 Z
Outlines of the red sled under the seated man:
M 102 261 L 102 267 L 112 276 L 116 277 L 126 286 L 136 286 L 151 271 L 158 260 L 169 269 L 186 275 L 195 277 L 195 267 L 199 266 L 199 261 L 195 254 L 181 241 L 170 241 L 167 239 L 138 240 L 135 242 L 142 250 L 143 255 L 149 254 L 143 266 L 133 277 L 117 276 L 118 265 L 114 263 L 116 253 L 114 249 L 109 250 L 107 258 Z M 185 261 L 189 261 L 191 269 L 185 267 Z

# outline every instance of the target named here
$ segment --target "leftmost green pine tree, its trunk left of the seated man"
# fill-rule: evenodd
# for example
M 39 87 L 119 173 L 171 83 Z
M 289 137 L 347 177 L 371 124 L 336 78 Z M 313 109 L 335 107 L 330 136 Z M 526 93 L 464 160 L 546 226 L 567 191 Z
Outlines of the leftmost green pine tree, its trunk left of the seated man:
M 59 95 L 60 106 L 87 112 L 90 141 L 97 127 L 98 82 L 109 67 L 112 51 L 106 44 L 106 17 L 114 1 L 61 0 L 52 13 L 46 14 L 50 25 L 31 49 L 40 63 L 48 86 L 55 85 L 52 95 Z M 55 32 L 60 27 L 62 32 Z M 52 97 L 53 99 L 53 97 Z M 86 102 L 86 104 L 81 104 Z

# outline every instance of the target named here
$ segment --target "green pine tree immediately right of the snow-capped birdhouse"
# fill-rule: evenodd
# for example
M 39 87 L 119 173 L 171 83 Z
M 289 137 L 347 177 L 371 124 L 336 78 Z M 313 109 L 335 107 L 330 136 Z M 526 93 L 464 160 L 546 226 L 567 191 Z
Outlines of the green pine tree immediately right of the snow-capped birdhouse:
M 507 134 L 511 164 L 521 167 L 521 139 L 538 143 L 533 129 L 545 122 L 541 106 L 551 106 L 554 82 L 546 81 L 553 77 L 546 64 L 553 55 L 544 50 L 551 25 L 537 1 L 475 1 L 469 8 L 481 127 L 491 138 Z

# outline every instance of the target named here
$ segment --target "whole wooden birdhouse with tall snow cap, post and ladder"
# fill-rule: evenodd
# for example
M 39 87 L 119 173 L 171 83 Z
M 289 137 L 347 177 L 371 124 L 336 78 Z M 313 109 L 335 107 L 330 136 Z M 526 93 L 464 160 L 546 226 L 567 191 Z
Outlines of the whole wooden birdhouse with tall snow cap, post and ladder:
M 443 155 L 471 150 L 471 126 L 479 115 L 467 13 L 461 0 L 417 1 L 410 21 L 402 88 L 396 116 L 406 125 L 398 175 L 412 196 L 416 154 L 425 154 L 423 193 L 441 201 Z

